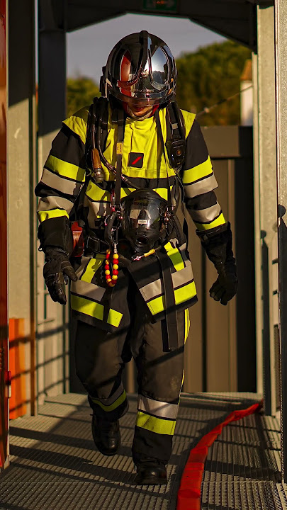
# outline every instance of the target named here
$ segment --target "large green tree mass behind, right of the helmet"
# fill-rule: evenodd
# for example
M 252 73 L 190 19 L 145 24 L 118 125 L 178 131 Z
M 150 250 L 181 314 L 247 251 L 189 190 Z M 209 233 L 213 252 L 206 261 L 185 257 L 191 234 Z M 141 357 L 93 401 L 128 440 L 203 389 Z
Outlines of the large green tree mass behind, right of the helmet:
M 251 51 L 236 42 L 225 41 L 201 47 L 176 60 L 179 107 L 198 113 L 240 91 L 240 75 Z M 240 96 L 198 118 L 201 125 L 240 123 Z

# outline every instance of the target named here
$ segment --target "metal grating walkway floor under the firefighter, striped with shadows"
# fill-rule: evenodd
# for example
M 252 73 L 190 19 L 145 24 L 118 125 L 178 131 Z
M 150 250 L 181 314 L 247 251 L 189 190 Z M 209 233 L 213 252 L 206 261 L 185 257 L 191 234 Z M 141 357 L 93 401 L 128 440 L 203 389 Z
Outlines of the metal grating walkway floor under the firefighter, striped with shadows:
M 191 448 L 232 410 L 254 403 L 254 395 L 182 395 L 167 487 L 131 485 L 135 395 L 129 400 L 120 420 L 122 446 L 110 458 L 94 448 L 84 395 L 49 397 L 38 416 L 11 421 L 11 465 L 0 474 L 0 510 L 175 510 Z M 208 454 L 202 509 L 286 510 L 279 448 L 276 419 L 249 416 L 227 426 Z

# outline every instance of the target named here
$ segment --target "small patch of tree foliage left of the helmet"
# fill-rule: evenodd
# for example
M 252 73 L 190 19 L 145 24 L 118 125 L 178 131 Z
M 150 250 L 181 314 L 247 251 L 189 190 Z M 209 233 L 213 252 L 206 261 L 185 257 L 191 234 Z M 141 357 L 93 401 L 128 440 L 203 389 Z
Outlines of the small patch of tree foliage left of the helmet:
M 80 108 L 90 105 L 95 96 L 100 96 L 99 86 L 91 78 L 67 79 L 67 117 Z

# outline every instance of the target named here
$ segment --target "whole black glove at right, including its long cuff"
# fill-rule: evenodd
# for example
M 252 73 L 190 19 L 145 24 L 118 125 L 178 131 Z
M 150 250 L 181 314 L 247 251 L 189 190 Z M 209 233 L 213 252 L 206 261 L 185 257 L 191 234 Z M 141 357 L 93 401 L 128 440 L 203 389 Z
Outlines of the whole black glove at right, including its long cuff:
M 218 271 L 218 279 L 209 290 L 210 297 L 222 305 L 235 296 L 237 292 L 237 272 L 232 252 L 232 233 L 230 223 L 220 226 L 215 232 L 196 232 L 206 250 L 208 259 Z

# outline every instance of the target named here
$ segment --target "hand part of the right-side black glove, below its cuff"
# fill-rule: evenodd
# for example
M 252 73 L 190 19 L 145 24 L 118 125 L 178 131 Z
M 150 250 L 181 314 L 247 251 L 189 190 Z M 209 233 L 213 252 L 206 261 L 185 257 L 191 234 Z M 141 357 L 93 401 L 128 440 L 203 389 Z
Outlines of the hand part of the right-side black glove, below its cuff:
M 215 301 L 220 301 L 222 305 L 227 305 L 227 302 L 235 296 L 237 292 L 237 274 L 235 264 L 222 264 L 217 267 L 218 279 L 213 283 L 209 290 L 210 297 Z

